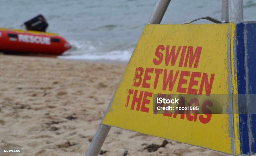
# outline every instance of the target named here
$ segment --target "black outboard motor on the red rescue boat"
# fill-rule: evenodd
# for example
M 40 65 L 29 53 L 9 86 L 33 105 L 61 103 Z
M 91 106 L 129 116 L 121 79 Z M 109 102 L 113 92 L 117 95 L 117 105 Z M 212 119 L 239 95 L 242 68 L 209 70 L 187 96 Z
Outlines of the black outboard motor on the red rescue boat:
M 46 22 L 44 16 L 42 15 L 37 15 L 29 20 L 27 20 L 25 23 L 25 26 L 27 30 L 36 30 L 36 31 L 41 31 L 45 32 L 48 23 Z

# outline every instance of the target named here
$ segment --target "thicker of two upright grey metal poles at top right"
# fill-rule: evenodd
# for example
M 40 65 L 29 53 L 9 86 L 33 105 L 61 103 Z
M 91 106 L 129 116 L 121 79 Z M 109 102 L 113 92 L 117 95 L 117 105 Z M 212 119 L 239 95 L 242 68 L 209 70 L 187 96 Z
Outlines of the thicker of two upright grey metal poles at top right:
M 229 0 L 229 21 L 243 22 L 243 0 Z

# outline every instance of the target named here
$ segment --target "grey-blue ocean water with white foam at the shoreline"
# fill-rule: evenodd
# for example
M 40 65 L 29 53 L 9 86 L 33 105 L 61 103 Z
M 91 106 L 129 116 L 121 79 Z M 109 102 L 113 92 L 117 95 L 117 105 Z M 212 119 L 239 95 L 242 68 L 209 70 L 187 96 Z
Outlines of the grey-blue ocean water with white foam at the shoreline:
M 71 45 L 59 58 L 128 61 L 157 0 L 0 0 L 0 27 L 20 25 L 42 14 L 47 31 Z M 244 21 L 256 21 L 256 1 L 244 0 Z M 172 0 L 161 24 L 198 17 L 221 20 L 221 0 Z M 200 20 L 196 23 L 210 23 Z

